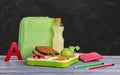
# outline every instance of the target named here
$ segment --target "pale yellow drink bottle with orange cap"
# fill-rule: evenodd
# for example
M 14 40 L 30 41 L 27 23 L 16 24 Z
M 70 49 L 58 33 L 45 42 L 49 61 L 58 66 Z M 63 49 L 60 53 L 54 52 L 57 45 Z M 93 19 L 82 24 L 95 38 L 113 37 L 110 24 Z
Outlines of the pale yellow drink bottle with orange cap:
M 63 38 L 63 30 L 64 27 L 61 24 L 61 18 L 56 18 L 56 23 L 53 26 L 53 49 L 58 51 L 59 53 L 64 48 L 64 38 Z

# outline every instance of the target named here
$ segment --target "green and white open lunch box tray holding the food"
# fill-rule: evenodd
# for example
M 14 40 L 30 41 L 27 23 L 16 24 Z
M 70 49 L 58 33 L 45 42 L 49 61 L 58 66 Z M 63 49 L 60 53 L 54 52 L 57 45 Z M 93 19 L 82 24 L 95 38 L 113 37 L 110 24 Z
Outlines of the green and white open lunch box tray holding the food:
M 52 59 L 52 58 L 51 58 Z M 59 68 L 66 68 L 72 65 L 73 63 L 78 62 L 78 57 L 70 58 L 69 60 L 59 61 L 59 60 L 51 60 L 51 59 L 33 59 L 27 58 L 27 65 L 30 66 L 50 66 L 50 67 L 59 67 Z

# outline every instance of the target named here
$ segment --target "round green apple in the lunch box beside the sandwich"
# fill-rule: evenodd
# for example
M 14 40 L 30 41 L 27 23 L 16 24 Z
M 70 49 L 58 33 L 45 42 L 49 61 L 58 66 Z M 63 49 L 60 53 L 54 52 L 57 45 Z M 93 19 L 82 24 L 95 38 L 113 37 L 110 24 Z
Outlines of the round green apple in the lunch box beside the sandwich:
M 61 51 L 61 56 L 68 57 L 68 58 L 72 58 L 72 57 L 75 56 L 75 53 L 74 53 L 74 51 L 72 51 L 70 48 L 64 48 L 64 49 Z

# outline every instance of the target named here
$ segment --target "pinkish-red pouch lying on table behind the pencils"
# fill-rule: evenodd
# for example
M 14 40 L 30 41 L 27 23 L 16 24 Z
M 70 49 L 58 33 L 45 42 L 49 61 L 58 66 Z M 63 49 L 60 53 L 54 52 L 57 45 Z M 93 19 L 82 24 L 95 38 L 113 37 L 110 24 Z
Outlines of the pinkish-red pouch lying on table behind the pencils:
M 103 58 L 102 55 L 98 54 L 97 52 L 90 52 L 90 53 L 82 54 L 79 56 L 79 59 L 84 62 L 90 62 L 90 61 L 99 60 L 102 58 Z

